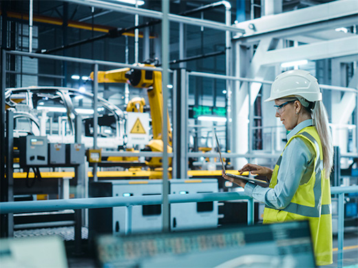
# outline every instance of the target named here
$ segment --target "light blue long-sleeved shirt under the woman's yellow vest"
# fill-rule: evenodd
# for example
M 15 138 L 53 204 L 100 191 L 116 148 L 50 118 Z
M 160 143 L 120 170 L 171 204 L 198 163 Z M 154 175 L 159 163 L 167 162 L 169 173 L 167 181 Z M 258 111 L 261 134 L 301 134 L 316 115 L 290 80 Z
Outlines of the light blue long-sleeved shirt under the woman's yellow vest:
M 288 133 L 287 140 L 307 126 L 312 120 L 305 120 Z M 294 138 L 282 153 L 277 184 L 274 188 L 264 188 L 253 183 L 246 183 L 245 194 L 265 203 L 271 208 L 282 210 L 291 202 L 300 184 L 310 179 L 315 161 L 315 151 L 308 142 L 300 137 Z

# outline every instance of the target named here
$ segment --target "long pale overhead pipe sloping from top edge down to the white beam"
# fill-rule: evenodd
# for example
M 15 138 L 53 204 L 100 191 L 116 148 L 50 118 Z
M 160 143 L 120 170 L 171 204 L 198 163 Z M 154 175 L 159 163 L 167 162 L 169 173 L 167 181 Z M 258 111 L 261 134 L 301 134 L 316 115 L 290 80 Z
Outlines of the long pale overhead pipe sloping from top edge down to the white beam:
M 154 11 L 154 10 L 146 10 L 144 8 L 133 8 L 128 5 L 120 5 L 118 3 L 108 3 L 105 1 L 98 1 L 98 0 L 64 0 L 71 3 L 77 3 L 80 5 L 89 5 L 94 6 L 96 8 L 107 8 L 113 11 L 118 11 L 122 13 L 128 13 L 128 14 L 139 14 L 141 16 L 147 16 L 151 18 L 156 19 L 162 19 L 163 13 Z M 227 26 L 224 23 L 217 23 L 215 21 L 208 21 L 208 20 L 202 20 L 202 19 L 194 19 L 186 16 L 180 16 L 176 14 L 168 14 L 169 21 L 174 21 L 177 23 L 187 23 L 190 25 L 196 25 L 196 26 L 204 26 L 216 30 L 222 30 L 226 31 L 229 30 L 231 32 L 241 32 L 244 33 L 244 30 L 239 29 L 235 26 Z

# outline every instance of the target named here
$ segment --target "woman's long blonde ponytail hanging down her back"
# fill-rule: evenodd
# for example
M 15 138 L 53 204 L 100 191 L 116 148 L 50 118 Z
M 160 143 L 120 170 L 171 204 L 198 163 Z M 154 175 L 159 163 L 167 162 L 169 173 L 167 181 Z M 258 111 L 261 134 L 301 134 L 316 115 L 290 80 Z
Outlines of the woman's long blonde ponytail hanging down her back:
M 333 142 L 328 126 L 328 115 L 322 100 L 315 102 L 314 109 L 311 113 L 313 125 L 317 129 L 321 139 L 323 150 L 323 167 L 326 170 L 326 179 L 329 178 L 333 167 Z

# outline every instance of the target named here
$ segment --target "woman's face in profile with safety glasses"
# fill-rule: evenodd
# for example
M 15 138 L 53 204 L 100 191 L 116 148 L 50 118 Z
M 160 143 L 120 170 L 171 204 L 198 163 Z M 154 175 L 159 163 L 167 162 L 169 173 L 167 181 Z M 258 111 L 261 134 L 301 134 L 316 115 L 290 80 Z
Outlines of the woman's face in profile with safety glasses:
M 288 131 L 291 131 L 295 126 L 297 126 L 298 116 L 296 115 L 295 101 L 286 102 L 278 99 L 275 100 L 275 107 L 275 117 L 280 118 L 282 124 L 284 124 L 284 127 Z

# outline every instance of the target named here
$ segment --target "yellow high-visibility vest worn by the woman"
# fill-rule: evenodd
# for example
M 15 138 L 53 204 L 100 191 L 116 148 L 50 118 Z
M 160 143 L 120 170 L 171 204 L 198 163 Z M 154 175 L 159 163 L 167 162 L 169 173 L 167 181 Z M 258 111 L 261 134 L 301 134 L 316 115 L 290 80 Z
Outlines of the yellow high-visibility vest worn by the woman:
M 295 137 L 301 137 L 306 140 L 315 150 L 315 166 L 312 175 L 308 181 L 300 183 L 291 203 L 286 208 L 277 210 L 266 205 L 264 209 L 264 223 L 308 220 L 316 265 L 330 265 L 333 263 L 330 180 L 329 178 L 326 179 L 323 168 L 321 139 L 319 139 L 315 127 L 308 126 L 291 137 L 286 146 Z M 282 154 L 273 170 L 270 188 L 274 188 L 277 184 L 277 173 L 280 169 L 281 159 Z

